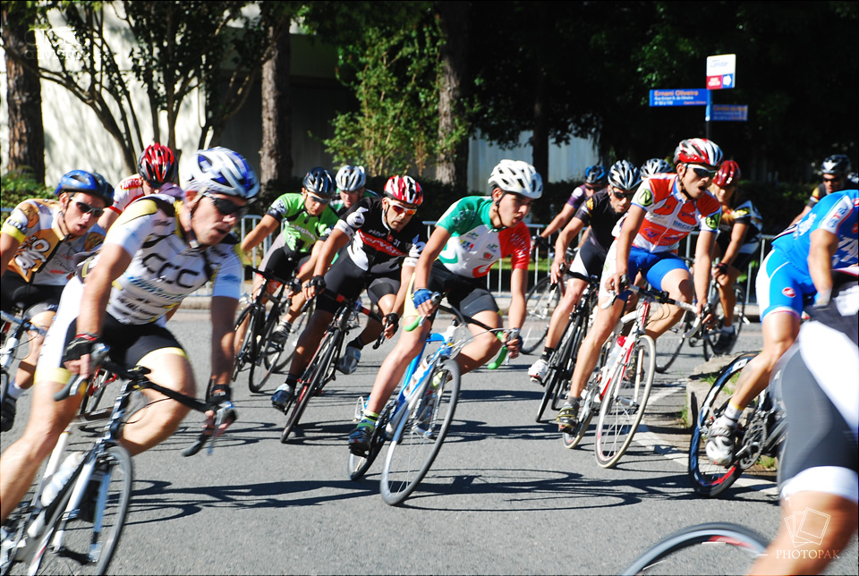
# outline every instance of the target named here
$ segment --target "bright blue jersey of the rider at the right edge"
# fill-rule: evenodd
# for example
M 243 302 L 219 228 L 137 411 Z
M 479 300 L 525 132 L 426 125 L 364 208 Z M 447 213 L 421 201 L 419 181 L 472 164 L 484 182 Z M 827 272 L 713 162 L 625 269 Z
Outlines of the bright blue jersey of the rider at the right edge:
M 832 268 L 844 268 L 857 263 L 857 232 L 859 232 L 859 191 L 846 190 L 824 196 L 812 211 L 772 241 L 787 259 L 804 275 L 808 272 L 808 250 L 812 232 L 826 230 L 838 236 L 838 249 L 832 256 Z M 809 276 L 810 277 L 810 276 Z

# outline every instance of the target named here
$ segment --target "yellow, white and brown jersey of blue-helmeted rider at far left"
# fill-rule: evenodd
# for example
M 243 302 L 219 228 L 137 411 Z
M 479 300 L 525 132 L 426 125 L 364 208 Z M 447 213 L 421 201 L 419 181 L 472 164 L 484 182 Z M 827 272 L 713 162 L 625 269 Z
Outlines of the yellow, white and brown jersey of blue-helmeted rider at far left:
M 60 228 L 58 200 L 24 200 L 3 224 L 3 233 L 21 242 L 9 262 L 28 284 L 63 286 L 74 272 L 74 256 L 95 250 L 105 239 L 95 224 L 81 238 L 69 239 Z

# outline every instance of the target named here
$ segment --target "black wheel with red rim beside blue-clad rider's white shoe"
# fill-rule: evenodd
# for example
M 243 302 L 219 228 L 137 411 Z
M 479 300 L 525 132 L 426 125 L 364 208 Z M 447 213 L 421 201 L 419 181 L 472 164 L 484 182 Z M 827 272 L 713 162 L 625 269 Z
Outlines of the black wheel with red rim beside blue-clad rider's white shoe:
M 692 479 L 695 492 L 701 496 L 719 496 L 743 473 L 743 469 L 736 462 L 725 468 L 710 461 L 704 447 L 710 437 L 710 427 L 722 415 L 727 408 L 727 402 L 734 395 L 740 370 L 756 355 L 756 352 L 747 352 L 723 368 L 710 386 L 710 392 L 707 393 L 698 413 L 689 443 L 689 478 Z

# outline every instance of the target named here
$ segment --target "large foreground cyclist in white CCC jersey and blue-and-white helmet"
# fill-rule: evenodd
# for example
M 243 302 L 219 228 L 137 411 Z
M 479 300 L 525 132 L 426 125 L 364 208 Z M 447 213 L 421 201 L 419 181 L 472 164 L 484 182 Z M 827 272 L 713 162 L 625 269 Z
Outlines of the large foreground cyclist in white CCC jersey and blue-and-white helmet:
M 166 329 L 165 316 L 208 280 L 213 283 L 209 382 L 226 418 L 213 430 L 209 411 L 206 426 L 217 435 L 234 419 L 229 382 L 242 262 L 230 231 L 258 191 L 256 174 L 243 157 L 226 148 L 200 150 L 184 201 L 160 194 L 138 200 L 117 219 L 98 255 L 81 263 L 39 357 L 30 421 L 0 460 L 3 518 L 26 494 L 78 411 L 80 396 L 55 402 L 54 394 L 72 373 L 89 374 L 89 352 L 97 343 L 110 346 L 111 357 L 124 365 L 149 368 L 153 382 L 194 394 L 191 363 Z M 164 398 L 151 390 L 144 394 L 152 401 Z M 123 445 L 132 454 L 157 445 L 187 411 L 179 402 L 150 403 L 140 419 L 124 425 Z

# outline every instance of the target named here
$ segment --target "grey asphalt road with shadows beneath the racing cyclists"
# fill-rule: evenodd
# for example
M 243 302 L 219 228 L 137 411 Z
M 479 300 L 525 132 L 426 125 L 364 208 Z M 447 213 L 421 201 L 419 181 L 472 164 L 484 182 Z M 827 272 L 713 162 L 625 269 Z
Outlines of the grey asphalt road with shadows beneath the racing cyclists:
M 180 312 L 170 326 L 204 381 L 208 312 Z M 736 351 L 760 345 L 759 326 L 747 326 Z M 369 392 L 391 346 L 368 349 L 354 375 L 312 399 L 288 445 L 279 442 L 285 416 L 268 399 L 277 382 L 267 394 L 251 394 L 242 376 L 240 420 L 212 455 L 181 455 L 200 426 L 192 414 L 163 445 L 136 457 L 131 513 L 112 572 L 603 574 L 692 524 L 736 522 L 766 538 L 778 529 L 772 474 L 740 479 L 723 499 L 694 496 L 678 415 L 685 376 L 702 358 L 687 353 L 670 375 L 658 376 L 645 426 L 613 470 L 594 462 L 592 431 L 566 450 L 556 427 L 534 421 L 542 392 L 526 376 L 534 357 L 465 376 L 432 470 L 404 505 L 388 506 L 378 495 L 381 458 L 352 482 L 345 442 L 355 400 Z M 3 434 L 4 448 L 21 435 L 27 398 Z M 855 538 L 840 556 L 830 572 L 856 574 Z M 695 568 L 720 573 L 719 565 Z

